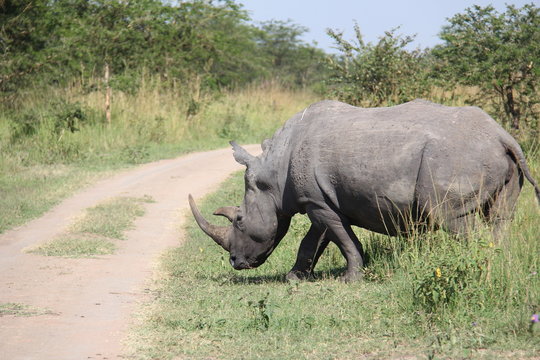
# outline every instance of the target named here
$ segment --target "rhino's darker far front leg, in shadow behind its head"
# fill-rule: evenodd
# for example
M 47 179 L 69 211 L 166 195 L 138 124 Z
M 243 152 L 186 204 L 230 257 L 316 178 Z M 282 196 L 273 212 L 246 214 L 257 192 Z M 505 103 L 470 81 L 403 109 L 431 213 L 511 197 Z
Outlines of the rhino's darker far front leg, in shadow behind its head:
M 312 277 L 313 269 L 329 242 L 326 230 L 321 231 L 316 226 L 311 225 L 300 243 L 296 263 L 287 274 L 287 280 L 303 280 Z

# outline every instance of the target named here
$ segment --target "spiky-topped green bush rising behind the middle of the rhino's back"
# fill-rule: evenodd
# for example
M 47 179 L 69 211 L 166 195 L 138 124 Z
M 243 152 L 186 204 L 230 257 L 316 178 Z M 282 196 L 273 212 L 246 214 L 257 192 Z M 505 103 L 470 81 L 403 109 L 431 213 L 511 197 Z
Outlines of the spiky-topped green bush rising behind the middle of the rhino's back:
M 328 30 L 341 51 L 341 56 L 329 59 L 333 70 L 330 84 L 337 98 L 374 107 L 400 104 L 428 94 L 429 56 L 419 49 L 406 49 L 413 37 L 403 37 L 393 29 L 377 44 L 365 44 L 359 26 L 354 29 L 356 43 L 346 41 L 340 32 Z

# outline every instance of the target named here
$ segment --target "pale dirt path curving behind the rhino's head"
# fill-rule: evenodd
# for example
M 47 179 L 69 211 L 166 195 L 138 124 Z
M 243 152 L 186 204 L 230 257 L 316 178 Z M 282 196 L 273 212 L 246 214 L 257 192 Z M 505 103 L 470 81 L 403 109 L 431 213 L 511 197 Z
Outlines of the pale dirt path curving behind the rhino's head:
M 247 146 L 248 151 L 260 151 Z M 157 258 L 178 245 L 188 193 L 199 198 L 241 169 L 230 149 L 143 165 L 65 200 L 43 217 L 0 235 L 0 304 L 45 313 L 0 316 L 0 359 L 117 359 L 130 315 L 144 300 Z M 64 259 L 24 253 L 68 226 L 87 207 L 114 196 L 155 203 L 114 255 Z

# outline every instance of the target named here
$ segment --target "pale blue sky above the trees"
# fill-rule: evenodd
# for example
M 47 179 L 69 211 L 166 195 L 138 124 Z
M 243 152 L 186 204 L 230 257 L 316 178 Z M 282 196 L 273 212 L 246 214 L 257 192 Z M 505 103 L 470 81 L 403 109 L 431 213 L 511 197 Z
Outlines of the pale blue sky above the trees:
M 416 35 L 413 47 L 432 47 L 440 42 L 437 34 L 447 24 L 446 19 L 463 12 L 472 5 L 493 5 L 498 11 L 506 9 L 505 3 L 522 7 L 538 5 L 540 0 L 238 0 L 255 21 L 271 19 L 287 20 L 305 26 L 309 33 L 304 36 L 308 43 L 328 52 L 333 42 L 326 29 L 343 30 L 345 38 L 354 38 L 354 21 L 366 42 L 376 42 L 384 31 L 401 26 L 399 33 Z

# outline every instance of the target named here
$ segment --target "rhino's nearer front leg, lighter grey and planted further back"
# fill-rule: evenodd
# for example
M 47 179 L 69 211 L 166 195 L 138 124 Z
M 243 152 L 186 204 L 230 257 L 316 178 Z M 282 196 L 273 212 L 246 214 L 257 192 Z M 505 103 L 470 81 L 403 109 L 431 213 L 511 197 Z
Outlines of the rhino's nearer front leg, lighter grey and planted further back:
M 348 220 L 331 209 L 318 208 L 308 211 L 311 221 L 327 229 L 326 237 L 333 241 L 347 260 L 347 271 L 342 280 L 357 281 L 363 277 L 364 250 Z

